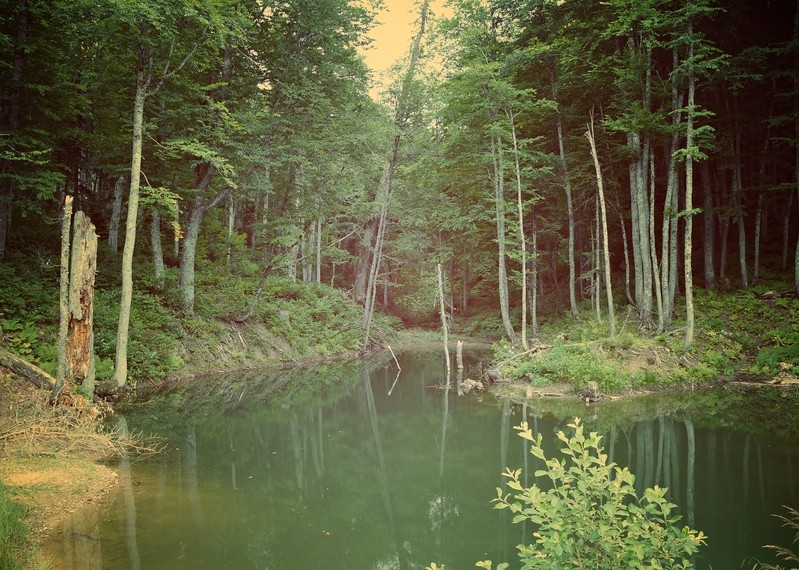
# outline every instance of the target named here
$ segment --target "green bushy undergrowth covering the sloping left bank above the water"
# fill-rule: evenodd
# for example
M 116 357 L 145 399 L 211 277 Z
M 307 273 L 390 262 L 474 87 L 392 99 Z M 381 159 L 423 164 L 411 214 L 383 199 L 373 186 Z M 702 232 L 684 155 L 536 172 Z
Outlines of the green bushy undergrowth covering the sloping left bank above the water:
M 142 257 L 137 262 L 134 273 L 148 276 L 148 260 Z M 118 260 L 107 254 L 98 266 L 94 330 L 97 379 L 102 382 L 113 374 L 120 273 Z M 58 357 L 57 280 L 57 267 L 33 256 L 15 254 L 0 265 L 3 346 L 53 375 Z M 128 367 L 136 381 L 199 373 L 204 366 L 235 369 L 342 355 L 356 350 L 362 340 L 362 309 L 324 284 L 294 282 L 280 275 L 261 283 L 255 271 L 233 275 L 209 266 L 198 272 L 196 307 L 186 314 L 176 295 L 176 281 L 175 271 L 167 272 L 163 288 L 147 277 L 135 281 Z M 259 285 L 255 310 L 240 322 Z M 378 321 L 373 330 L 380 338 L 388 325 Z M 216 357 L 214 362 L 209 354 Z

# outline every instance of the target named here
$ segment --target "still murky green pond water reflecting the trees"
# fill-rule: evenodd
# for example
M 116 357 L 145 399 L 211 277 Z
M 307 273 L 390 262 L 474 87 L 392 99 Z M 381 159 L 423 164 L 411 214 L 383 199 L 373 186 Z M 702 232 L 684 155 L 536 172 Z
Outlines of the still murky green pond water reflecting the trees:
M 790 544 L 770 516 L 799 506 L 799 442 L 795 430 L 778 429 L 797 416 L 780 400 L 758 410 L 775 420 L 775 433 L 754 421 L 747 434 L 718 427 L 717 406 L 670 412 L 674 396 L 626 408 L 571 399 L 511 405 L 436 389 L 444 370 L 437 354 L 400 355 L 400 364 L 398 378 L 391 360 L 198 381 L 160 404 L 134 406 L 127 426 L 159 432 L 169 451 L 123 460 L 115 499 L 67 521 L 47 551 L 58 567 L 75 569 L 437 562 L 455 570 L 486 558 L 517 567 L 515 545 L 532 528 L 490 504 L 505 466 L 537 468 L 513 426 L 527 419 L 552 452 L 553 434 L 568 423 L 556 416 L 574 414 L 605 434 L 606 450 L 639 488 L 668 486 L 685 520 L 709 535 L 699 568 L 740 568 L 747 556 L 767 559 L 763 544 Z

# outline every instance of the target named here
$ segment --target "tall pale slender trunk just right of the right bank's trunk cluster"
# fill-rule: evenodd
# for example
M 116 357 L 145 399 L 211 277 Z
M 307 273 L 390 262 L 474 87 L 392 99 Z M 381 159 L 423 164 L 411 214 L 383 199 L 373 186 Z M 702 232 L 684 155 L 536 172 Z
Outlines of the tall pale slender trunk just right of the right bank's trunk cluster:
M 690 0 L 688 0 L 690 2 Z M 693 23 L 688 20 L 688 37 L 693 35 Z M 685 275 L 685 340 L 683 348 L 688 350 L 694 342 L 694 283 L 693 283 L 693 264 L 691 254 L 693 245 L 691 243 L 693 230 L 693 191 L 694 191 L 694 91 L 695 81 L 693 73 L 694 42 L 688 44 L 688 113 L 685 127 L 685 148 L 688 151 L 685 156 L 685 246 L 683 255 L 685 262 L 683 271 Z

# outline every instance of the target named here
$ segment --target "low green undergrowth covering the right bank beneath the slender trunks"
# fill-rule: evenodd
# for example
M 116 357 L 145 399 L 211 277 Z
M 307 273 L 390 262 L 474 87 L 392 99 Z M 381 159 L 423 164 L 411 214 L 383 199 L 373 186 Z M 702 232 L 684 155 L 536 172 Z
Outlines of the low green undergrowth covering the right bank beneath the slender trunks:
M 629 309 L 614 337 L 605 322 L 567 317 L 544 324 L 530 351 L 499 342 L 495 362 L 504 377 L 533 386 L 565 382 L 580 390 L 595 381 L 604 393 L 719 378 L 796 377 L 799 300 L 773 294 L 780 285 L 730 293 L 697 290 L 697 335 L 688 351 L 682 347 L 684 323 L 679 318 L 665 332 L 640 330 Z M 625 315 L 625 309 L 617 308 L 617 314 Z

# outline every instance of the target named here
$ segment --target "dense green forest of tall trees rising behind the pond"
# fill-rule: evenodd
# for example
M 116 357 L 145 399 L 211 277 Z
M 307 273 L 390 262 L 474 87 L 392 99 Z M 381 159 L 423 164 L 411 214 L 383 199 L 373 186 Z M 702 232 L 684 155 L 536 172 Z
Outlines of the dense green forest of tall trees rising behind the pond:
M 441 317 L 526 350 L 626 310 L 690 350 L 695 292 L 799 290 L 796 2 L 422 0 L 387 78 L 380 6 L 4 0 L 6 347 L 61 370 L 73 211 L 117 386 L 222 324 L 335 354 Z

